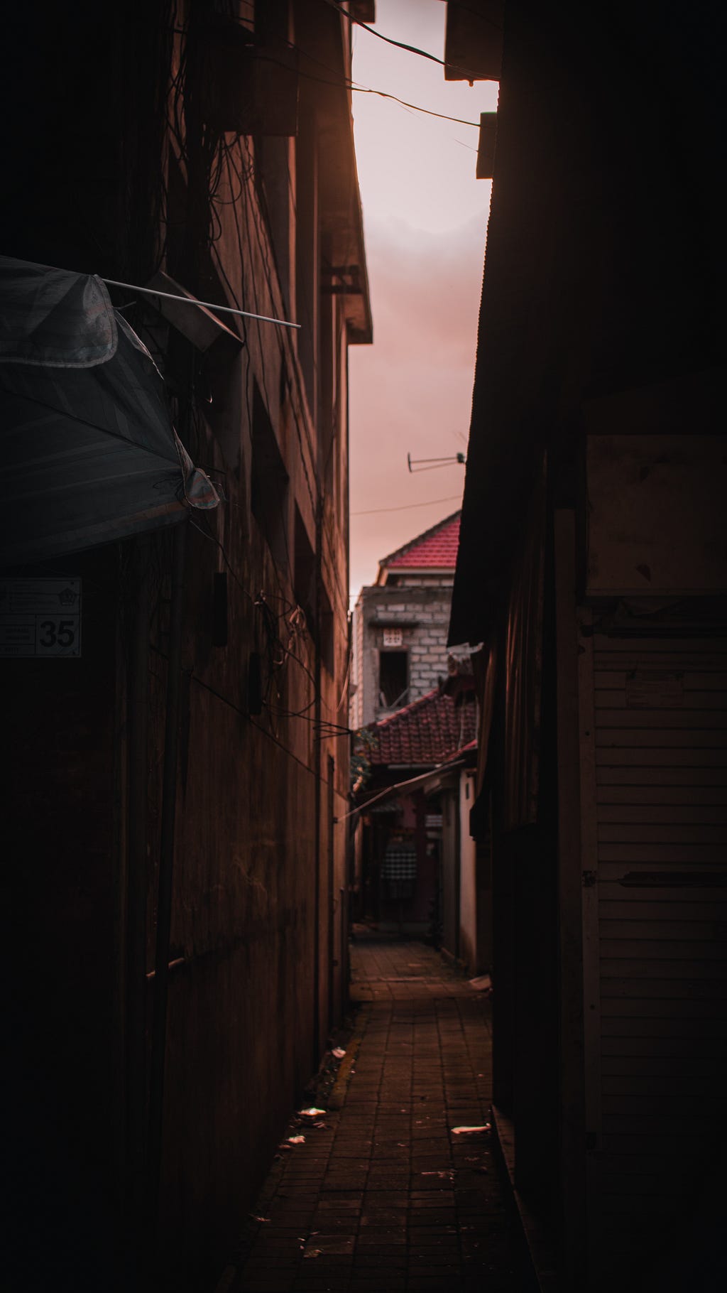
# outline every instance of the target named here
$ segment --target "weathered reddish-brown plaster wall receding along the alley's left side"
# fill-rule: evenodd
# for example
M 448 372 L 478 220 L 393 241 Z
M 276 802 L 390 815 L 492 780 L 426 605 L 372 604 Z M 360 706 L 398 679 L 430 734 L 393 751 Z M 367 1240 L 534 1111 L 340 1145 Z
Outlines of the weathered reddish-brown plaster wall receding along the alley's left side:
M 254 164 L 252 146 L 241 141 L 239 149 L 247 173 Z M 217 291 L 241 283 L 248 308 L 282 317 L 284 300 L 270 274 L 265 213 L 252 184 L 236 204 L 221 207 L 221 225 L 213 257 Z M 298 255 L 307 253 L 298 244 Z M 298 315 L 309 328 L 305 281 L 298 288 Z M 327 299 L 342 362 L 340 301 Z M 203 453 L 198 445 L 198 458 L 223 480 L 226 502 L 201 526 L 216 542 L 199 530 L 190 534 L 186 590 L 170 949 L 183 963 L 170 981 L 161 1218 L 167 1261 L 183 1268 L 183 1277 L 212 1270 L 225 1239 L 234 1237 L 329 1028 L 341 1018 L 346 831 L 332 816 L 346 812 L 349 782 L 347 738 L 334 734 L 347 714 L 346 491 L 322 491 L 322 472 L 336 480 L 347 471 L 345 374 L 337 372 L 327 389 L 318 387 L 312 410 L 297 349 L 298 339 L 287 331 L 245 328 L 240 356 L 214 374 L 209 422 L 198 420 L 195 428 L 204 445 Z M 265 507 L 254 507 L 262 424 L 266 453 L 274 443 L 282 463 L 280 489 Z M 323 456 L 322 427 L 334 432 Z M 210 640 L 214 573 L 227 574 L 225 648 Z M 150 745 L 152 856 L 164 654 L 161 612 L 151 656 L 158 675 Z M 257 711 L 248 688 L 254 658 Z M 152 873 L 150 966 L 154 895 Z

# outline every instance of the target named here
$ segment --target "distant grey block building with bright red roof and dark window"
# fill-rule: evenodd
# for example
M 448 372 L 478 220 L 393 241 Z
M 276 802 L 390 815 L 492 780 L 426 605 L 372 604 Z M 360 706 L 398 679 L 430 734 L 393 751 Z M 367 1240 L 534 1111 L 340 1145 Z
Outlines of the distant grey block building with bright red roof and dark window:
M 378 564 L 354 610 L 351 727 L 420 700 L 447 674 L 447 631 L 460 512 Z

